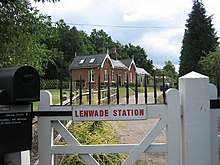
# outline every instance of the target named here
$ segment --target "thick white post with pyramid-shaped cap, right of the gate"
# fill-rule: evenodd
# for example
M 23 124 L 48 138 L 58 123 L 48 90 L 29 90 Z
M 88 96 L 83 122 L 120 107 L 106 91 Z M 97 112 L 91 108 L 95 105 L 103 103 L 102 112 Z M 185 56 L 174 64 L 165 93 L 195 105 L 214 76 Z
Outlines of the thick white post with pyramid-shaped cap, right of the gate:
M 209 78 L 190 72 L 179 79 L 183 165 L 211 164 Z

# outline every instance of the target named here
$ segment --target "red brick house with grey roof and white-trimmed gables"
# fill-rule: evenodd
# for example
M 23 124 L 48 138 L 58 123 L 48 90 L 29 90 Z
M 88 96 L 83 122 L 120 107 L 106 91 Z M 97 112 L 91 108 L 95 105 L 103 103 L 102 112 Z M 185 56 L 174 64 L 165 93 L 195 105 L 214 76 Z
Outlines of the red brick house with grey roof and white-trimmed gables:
M 129 83 L 134 83 L 136 76 L 136 66 L 132 59 L 113 60 L 108 53 L 76 56 L 69 69 L 75 86 L 78 85 L 80 76 L 85 87 L 88 87 L 89 81 L 97 87 L 99 75 L 101 83 L 107 82 L 109 77 L 111 84 L 117 82 L 118 76 L 120 85 L 126 83 L 127 75 Z

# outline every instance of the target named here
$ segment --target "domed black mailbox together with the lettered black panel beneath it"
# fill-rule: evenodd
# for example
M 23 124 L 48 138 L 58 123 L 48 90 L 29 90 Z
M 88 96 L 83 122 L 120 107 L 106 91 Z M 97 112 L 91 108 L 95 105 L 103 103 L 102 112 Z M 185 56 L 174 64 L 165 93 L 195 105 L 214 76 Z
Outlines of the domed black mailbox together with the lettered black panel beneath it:
M 39 100 L 37 70 L 0 68 L 0 155 L 31 149 L 32 102 Z

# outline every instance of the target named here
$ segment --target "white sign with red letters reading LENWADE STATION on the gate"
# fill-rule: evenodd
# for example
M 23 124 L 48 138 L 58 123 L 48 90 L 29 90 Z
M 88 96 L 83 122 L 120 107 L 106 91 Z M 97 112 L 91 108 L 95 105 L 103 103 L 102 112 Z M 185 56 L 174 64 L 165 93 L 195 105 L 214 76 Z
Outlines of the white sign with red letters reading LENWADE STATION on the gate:
M 144 120 L 145 104 L 133 105 L 73 105 L 74 121 Z

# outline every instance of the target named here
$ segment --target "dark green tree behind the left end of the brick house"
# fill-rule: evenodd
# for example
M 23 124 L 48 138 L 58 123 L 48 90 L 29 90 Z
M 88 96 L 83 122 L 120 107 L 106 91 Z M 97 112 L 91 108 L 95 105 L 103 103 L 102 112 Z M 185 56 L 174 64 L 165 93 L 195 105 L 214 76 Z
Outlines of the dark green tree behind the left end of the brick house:
M 83 31 L 78 31 L 76 27 L 68 26 L 64 20 L 60 20 L 53 27 L 55 37 L 45 44 L 55 52 L 55 60 L 48 64 L 45 79 L 68 79 L 69 65 L 75 54 L 89 55 L 94 53 L 94 49 L 88 39 L 88 35 Z

